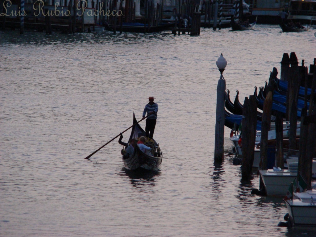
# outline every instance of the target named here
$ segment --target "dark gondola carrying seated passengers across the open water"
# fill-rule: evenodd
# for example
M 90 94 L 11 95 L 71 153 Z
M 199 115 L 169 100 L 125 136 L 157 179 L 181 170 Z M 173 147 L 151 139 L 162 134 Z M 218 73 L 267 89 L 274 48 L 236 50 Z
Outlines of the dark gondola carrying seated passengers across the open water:
M 128 140 L 130 143 L 132 139 L 138 139 L 141 136 L 145 135 L 143 128 L 137 123 L 135 114 L 133 114 L 133 124 L 135 124 L 131 131 L 131 136 Z M 127 170 L 149 170 L 149 171 L 158 171 L 160 169 L 160 164 L 163 158 L 163 153 L 159 147 L 159 144 L 154 139 L 149 139 L 144 143 L 146 146 L 151 147 L 151 154 L 148 155 L 142 152 L 139 147 L 136 145 L 133 155 L 131 157 L 122 156 L 124 167 Z

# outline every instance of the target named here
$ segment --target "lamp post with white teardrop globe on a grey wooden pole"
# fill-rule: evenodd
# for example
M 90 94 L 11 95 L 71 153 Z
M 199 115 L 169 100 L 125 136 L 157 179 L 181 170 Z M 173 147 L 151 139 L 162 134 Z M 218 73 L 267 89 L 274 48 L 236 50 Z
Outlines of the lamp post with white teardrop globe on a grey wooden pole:
M 226 82 L 223 77 L 223 71 L 227 65 L 227 61 L 223 57 L 223 54 L 221 54 L 221 56 L 217 59 L 216 65 L 218 70 L 221 72 L 221 78 L 218 80 L 217 84 L 214 159 L 216 162 L 223 162 L 226 96 Z

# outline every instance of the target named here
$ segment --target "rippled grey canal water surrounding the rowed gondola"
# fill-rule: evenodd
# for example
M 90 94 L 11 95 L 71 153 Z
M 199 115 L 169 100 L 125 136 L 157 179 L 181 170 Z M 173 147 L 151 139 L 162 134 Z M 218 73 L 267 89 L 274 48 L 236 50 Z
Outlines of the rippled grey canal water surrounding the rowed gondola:
M 229 129 L 225 158 L 214 164 L 216 60 L 231 100 L 280 74 L 283 53 L 313 63 L 314 32 L 170 33 L 0 32 L 0 236 L 316 236 L 277 227 L 282 198 L 251 194 L 241 182 Z M 114 140 L 142 117 L 148 96 L 159 105 L 158 173 L 123 169 Z M 145 126 L 141 122 L 141 126 Z M 124 133 L 126 142 L 129 131 Z

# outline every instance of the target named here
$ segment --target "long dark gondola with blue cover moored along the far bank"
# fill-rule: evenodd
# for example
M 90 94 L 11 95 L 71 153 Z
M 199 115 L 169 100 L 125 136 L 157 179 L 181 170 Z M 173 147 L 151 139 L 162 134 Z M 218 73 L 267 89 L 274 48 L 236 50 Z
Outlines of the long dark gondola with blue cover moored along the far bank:
M 143 23 L 125 23 L 122 24 L 122 32 L 130 32 L 130 33 L 154 33 L 161 32 L 170 29 L 170 27 L 174 27 L 174 22 L 161 23 L 159 25 L 148 25 Z M 114 31 L 114 25 L 105 25 L 105 29 L 107 31 Z M 120 25 L 116 25 L 116 31 L 120 31 Z

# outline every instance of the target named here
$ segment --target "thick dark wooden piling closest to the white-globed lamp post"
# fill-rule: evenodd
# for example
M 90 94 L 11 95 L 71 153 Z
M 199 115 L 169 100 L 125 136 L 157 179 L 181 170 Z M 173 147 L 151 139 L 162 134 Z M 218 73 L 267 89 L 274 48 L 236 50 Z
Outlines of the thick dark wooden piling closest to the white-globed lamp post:
M 242 112 L 242 165 L 241 179 L 248 180 L 252 174 L 257 129 L 257 102 L 254 95 L 245 98 Z

